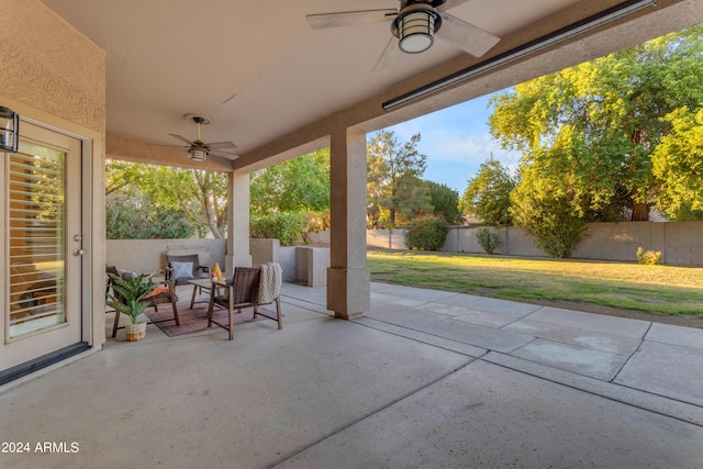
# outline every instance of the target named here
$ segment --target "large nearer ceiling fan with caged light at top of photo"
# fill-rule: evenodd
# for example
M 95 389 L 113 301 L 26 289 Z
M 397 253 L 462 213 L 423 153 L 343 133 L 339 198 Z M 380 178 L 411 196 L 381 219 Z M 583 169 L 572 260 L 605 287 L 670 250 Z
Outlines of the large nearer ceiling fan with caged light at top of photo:
M 434 43 L 435 33 L 476 57 L 489 52 L 500 37 L 445 11 L 466 1 L 400 0 L 399 10 L 344 11 L 309 14 L 305 18 L 313 30 L 390 21 L 393 35 L 375 68 L 383 70 L 400 58 L 401 52 L 419 54 L 427 51 Z

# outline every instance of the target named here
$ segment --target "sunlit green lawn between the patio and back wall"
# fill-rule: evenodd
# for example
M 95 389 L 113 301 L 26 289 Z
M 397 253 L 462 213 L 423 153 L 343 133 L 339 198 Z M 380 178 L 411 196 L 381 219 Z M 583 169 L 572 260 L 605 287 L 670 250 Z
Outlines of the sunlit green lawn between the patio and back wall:
M 416 250 L 368 253 L 371 280 L 503 300 L 703 316 L 703 269 Z

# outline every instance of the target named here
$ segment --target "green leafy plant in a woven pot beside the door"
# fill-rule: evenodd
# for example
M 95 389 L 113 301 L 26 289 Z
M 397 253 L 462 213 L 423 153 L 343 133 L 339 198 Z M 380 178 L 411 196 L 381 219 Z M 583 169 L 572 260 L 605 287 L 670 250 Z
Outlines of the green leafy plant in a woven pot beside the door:
M 124 326 L 127 340 L 141 340 L 146 336 L 146 323 L 137 323 L 140 314 L 146 310 L 152 302 L 145 301 L 146 297 L 158 283 L 147 281 L 144 273 L 123 279 L 114 273 L 108 273 L 112 279 L 112 289 L 115 297 L 108 300 L 108 305 L 115 309 L 115 314 L 124 313 L 130 316 L 131 323 Z

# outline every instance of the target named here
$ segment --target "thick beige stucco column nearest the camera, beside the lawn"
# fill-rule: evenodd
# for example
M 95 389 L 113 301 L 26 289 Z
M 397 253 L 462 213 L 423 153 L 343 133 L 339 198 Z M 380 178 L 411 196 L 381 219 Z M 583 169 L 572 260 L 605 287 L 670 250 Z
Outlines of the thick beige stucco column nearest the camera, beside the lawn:
M 327 309 L 336 317 L 361 317 L 370 308 L 366 266 L 366 134 L 345 130 L 332 135 L 331 267 Z

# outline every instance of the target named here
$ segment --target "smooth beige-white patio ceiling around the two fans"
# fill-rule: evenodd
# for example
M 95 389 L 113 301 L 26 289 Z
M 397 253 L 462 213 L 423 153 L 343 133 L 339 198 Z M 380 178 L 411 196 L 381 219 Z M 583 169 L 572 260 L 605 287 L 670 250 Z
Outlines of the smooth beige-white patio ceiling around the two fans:
M 203 141 L 245 154 L 464 54 L 437 37 L 375 72 L 389 23 L 313 31 L 305 21 L 397 0 L 42 1 L 105 51 L 108 132 L 158 144 L 194 138 L 182 115 L 201 113 L 213 120 Z M 506 37 L 579 1 L 458 3 L 448 12 Z

